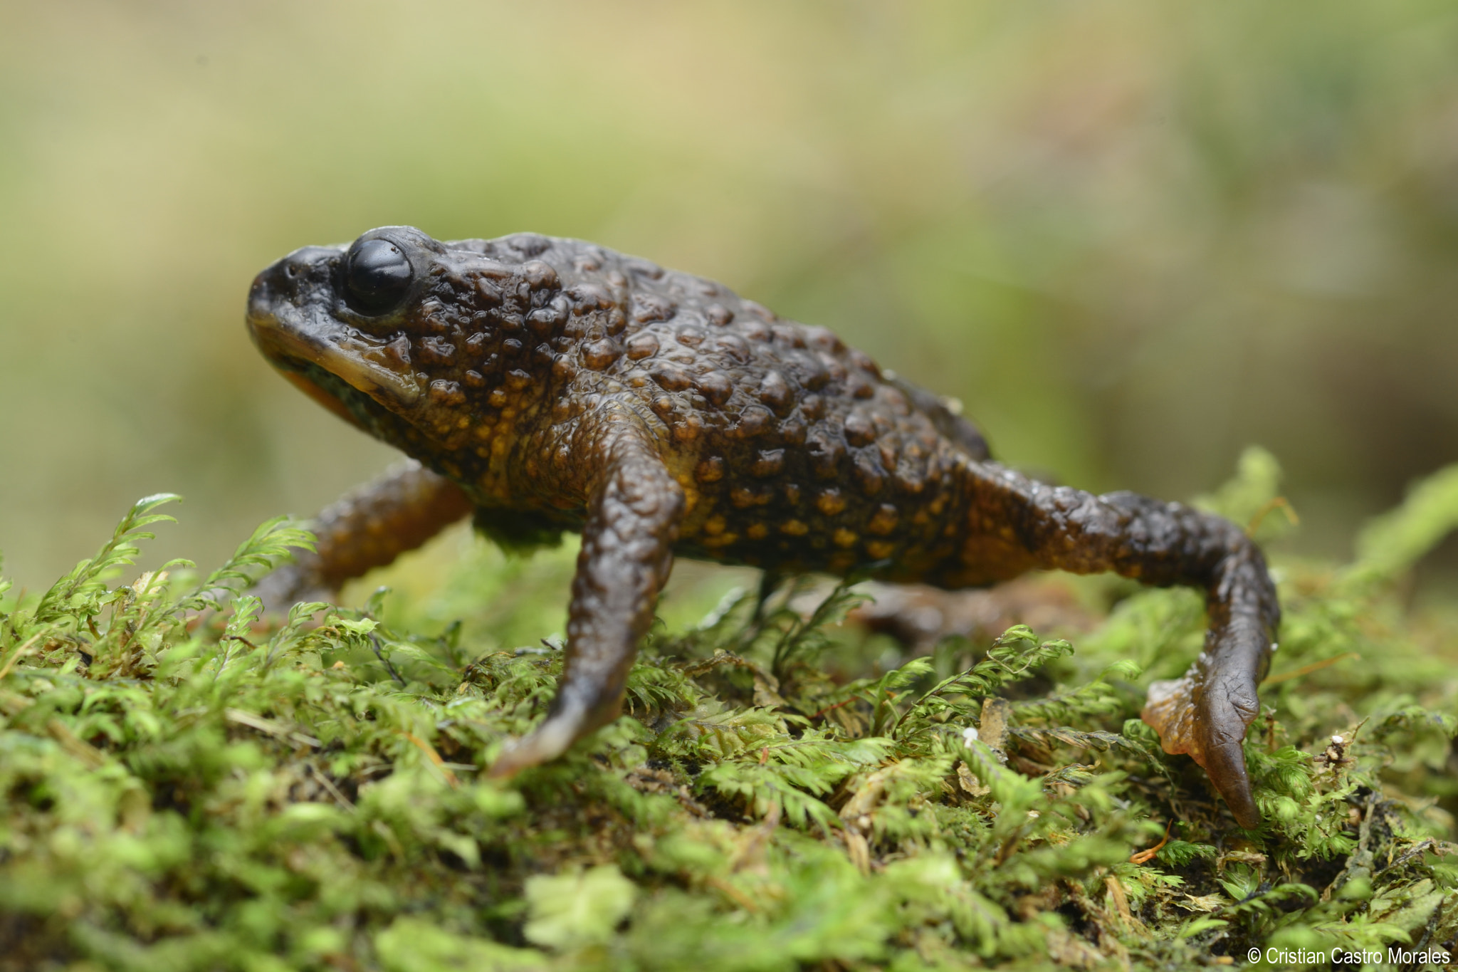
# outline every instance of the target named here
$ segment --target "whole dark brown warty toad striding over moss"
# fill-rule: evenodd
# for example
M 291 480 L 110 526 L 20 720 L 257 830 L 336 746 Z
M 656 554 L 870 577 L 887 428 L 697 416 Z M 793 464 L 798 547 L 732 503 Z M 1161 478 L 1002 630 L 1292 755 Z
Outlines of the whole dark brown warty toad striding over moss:
M 582 533 L 557 699 L 497 775 L 618 714 L 675 554 L 942 587 L 1112 570 L 1207 592 L 1206 650 L 1145 718 L 1260 822 L 1241 742 L 1280 609 L 1228 520 L 1028 479 L 830 331 L 580 240 L 370 230 L 261 273 L 248 325 L 303 391 L 429 468 L 331 507 L 280 590 L 337 586 L 472 509 L 507 545 Z

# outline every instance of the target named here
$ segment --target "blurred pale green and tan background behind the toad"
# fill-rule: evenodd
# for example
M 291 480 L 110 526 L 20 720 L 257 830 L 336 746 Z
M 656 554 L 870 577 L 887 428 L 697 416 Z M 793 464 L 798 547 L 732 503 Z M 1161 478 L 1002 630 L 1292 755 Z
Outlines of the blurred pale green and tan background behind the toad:
M 1344 554 L 1458 459 L 1455 51 L 1426 0 L 0 3 L 6 573 L 159 490 L 207 565 L 388 465 L 242 326 L 386 223 L 719 278 L 1069 484 L 1264 444 Z

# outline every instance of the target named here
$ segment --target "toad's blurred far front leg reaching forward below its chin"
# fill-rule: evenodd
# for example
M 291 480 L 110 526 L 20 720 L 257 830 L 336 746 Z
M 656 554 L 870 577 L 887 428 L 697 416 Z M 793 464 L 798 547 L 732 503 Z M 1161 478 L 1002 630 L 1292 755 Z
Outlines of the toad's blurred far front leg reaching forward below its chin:
M 332 597 L 344 581 L 416 549 L 469 512 L 461 487 L 414 459 L 402 462 L 327 506 L 309 525 L 316 548 L 295 549 L 295 563 L 264 577 L 255 592 L 280 611 Z

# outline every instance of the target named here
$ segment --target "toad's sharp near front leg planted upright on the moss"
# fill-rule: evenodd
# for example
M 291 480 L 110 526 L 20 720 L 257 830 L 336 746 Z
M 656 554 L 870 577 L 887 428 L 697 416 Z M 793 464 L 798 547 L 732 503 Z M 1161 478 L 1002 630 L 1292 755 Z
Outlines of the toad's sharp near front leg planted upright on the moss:
M 653 622 L 658 592 L 674 565 L 684 491 L 647 433 L 615 431 L 593 452 L 605 462 L 589 494 L 557 698 L 535 732 L 502 752 L 493 777 L 553 759 L 617 718 L 637 643 Z

